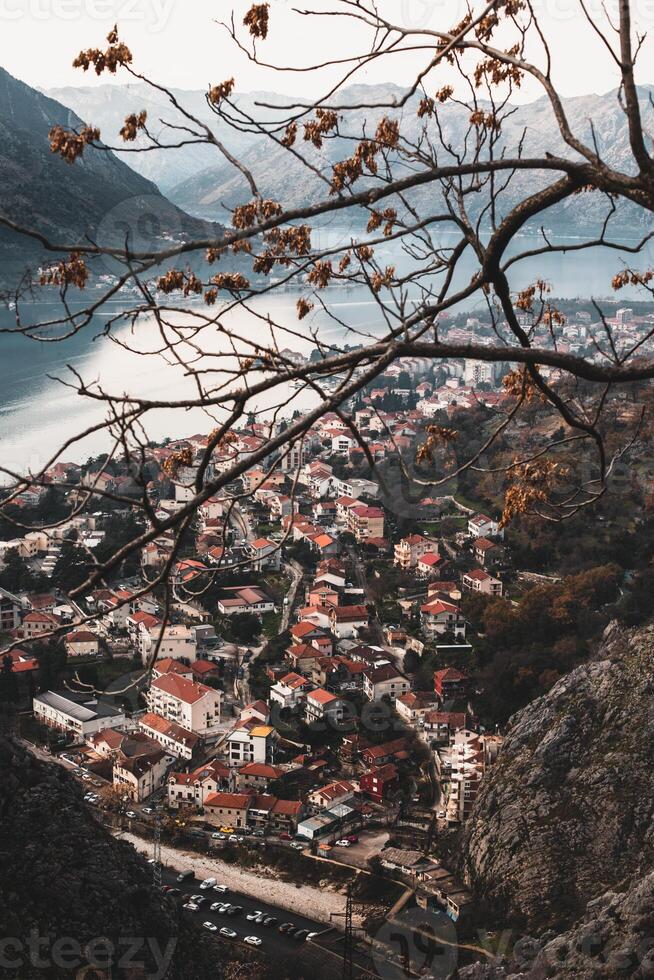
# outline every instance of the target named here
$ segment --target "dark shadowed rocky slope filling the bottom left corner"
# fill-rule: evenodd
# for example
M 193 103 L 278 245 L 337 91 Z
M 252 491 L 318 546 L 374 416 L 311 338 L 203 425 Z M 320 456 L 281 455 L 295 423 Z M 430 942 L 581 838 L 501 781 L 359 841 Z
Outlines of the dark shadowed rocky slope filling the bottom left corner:
M 0 977 L 219 980 L 219 947 L 180 920 L 71 776 L 3 738 L 0 773 Z

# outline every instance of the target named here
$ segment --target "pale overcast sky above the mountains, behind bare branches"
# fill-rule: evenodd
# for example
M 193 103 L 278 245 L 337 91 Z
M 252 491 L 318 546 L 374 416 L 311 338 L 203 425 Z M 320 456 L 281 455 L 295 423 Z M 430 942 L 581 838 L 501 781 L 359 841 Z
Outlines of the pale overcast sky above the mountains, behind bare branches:
M 31 85 L 49 88 L 96 84 L 92 73 L 71 67 L 82 47 L 104 43 L 118 22 L 121 36 L 130 45 L 135 66 L 164 84 L 204 88 L 234 75 L 241 91 L 267 89 L 315 96 L 334 80 L 332 70 L 312 75 L 279 73 L 253 65 L 239 53 L 216 21 L 234 11 L 240 25 L 251 0 L 0 0 L 0 63 L 11 74 Z M 296 66 L 311 60 L 353 55 L 365 49 L 365 39 L 351 20 L 319 17 L 308 19 L 293 13 L 295 0 L 271 0 L 270 36 L 262 54 L 275 63 Z M 304 7 L 322 12 L 330 0 L 306 0 Z M 462 16 L 463 0 L 380 0 L 379 6 L 394 22 L 406 26 L 447 29 Z M 587 0 L 588 9 L 600 22 L 601 0 Z M 616 0 L 608 0 L 609 10 Z M 654 35 L 654 0 L 634 0 L 637 26 Z M 541 24 L 555 54 L 554 77 L 565 95 L 605 92 L 616 84 L 615 66 L 592 29 L 583 19 L 578 0 L 535 0 Z M 359 81 L 393 81 L 406 84 L 425 62 L 425 52 L 387 59 L 357 73 Z M 644 50 L 640 81 L 654 81 L 651 52 Z M 447 67 L 437 79 L 449 80 Z M 103 76 L 102 82 L 107 80 Z M 118 76 L 118 81 L 126 81 Z M 527 85 L 519 98 L 528 101 L 540 94 Z

